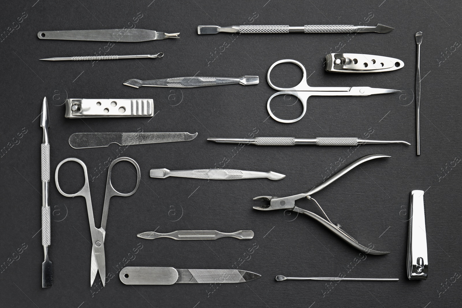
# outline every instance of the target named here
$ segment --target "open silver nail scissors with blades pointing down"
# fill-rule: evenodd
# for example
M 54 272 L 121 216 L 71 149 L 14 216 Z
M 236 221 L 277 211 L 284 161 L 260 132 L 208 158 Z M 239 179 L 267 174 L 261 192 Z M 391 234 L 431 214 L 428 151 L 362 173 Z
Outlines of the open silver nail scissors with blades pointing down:
M 128 161 L 130 163 L 133 163 L 136 172 L 137 172 L 137 181 L 136 181 L 136 187 L 131 193 L 119 193 L 112 187 L 112 182 L 111 182 L 111 174 L 112 174 L 112 167 L 122 161 Z M 76 162 L 79 163 L 82 168 L 84 169 L 84 175 L 85 175 L 85 183 L 84 186 L 77 192 L 77 193 L 65 193 L 61 190 L 61 187 L 59 185 L 58 181 L 58 172 L 59 169 L 61 168 L 61 165 L 67 162 Z M 95 226 L 95 220 L 93 218 L 93 207 L 91 205 L 91 196 L 90 196 L 90 185 L 88 182 L 88 172 L 87 168 L 84 162 L 82 162 L 78 158 L 66 158 L 61 163 L 58 164 L 58 167 L 56 167 L 55 171 L 55 183 L 56 183 L 56 188 L 58 188 L 58 191 L 66 197 L 75 197 L 75 196 L 82 196 L 85 197 L 86 200 L 86 205 L 87 205 L 87 212 L 88 212 L 88 220 L 90 222 L 90 232 L 91 232 L 91 242 L 92 242 L 92 248 L 91 248 L 91 269 L 90 269 L 90 287 L 93 285 L 93 282 L 95 281 L 96 278 L 96 273 L 99 271 L 99 276 L 101 277 L 101 281 L 103 283 L 103 286 L 105 284 L 105 278 L 106 278 L 106 262 L 105 262 L 105 256 L 104 256 L 104 237 L 106 235 L 106 222 L 108 219 L 108 211 L 109 211 L 109 201 L 112 196 L 122 196 L 122 197 L 128 197 L 132 194 L 134 194 L 138 186 L 140 185 L 140 166 L 138 166 L 138 163 L 136 163 L 132 158 L 129 157 L 119 157 L 112 161 L 112 163 L 109 165 L 108 169 L 108 179 L 106 182 L 106 193 L 104 195 L 104 205 L 103 205 L 103 217 L 101 218 L 101 227 L 98 229 Z

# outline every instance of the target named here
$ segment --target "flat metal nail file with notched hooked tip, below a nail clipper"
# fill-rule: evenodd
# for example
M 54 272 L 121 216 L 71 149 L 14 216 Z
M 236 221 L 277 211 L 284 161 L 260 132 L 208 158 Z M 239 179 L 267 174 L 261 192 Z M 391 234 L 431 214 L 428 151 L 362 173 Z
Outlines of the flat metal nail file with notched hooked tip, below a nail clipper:
M 73 133 L 69 145 L 74 149 L 98 148 L 111 143 L 118 145 L 143 145 L 151 143 L 189 141 L 197 133 Z

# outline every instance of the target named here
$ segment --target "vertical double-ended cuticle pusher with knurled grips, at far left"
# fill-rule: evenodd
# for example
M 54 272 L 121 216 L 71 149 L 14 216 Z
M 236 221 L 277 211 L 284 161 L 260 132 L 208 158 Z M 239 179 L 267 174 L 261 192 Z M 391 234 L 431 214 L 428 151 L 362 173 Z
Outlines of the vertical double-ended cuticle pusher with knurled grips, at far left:
M 45 259 L 42 263 L 42 288 L 49 288 L 53 283 L 53 265 L 48 258 L 48 247 L 51 244 L 50 233 L 50 144 L 48 139 L 49 112 L 47 98 L 43 98 L 40 126 L 43 127 L 43 140 L 41 145 L 42 158 L 42 246 Z

